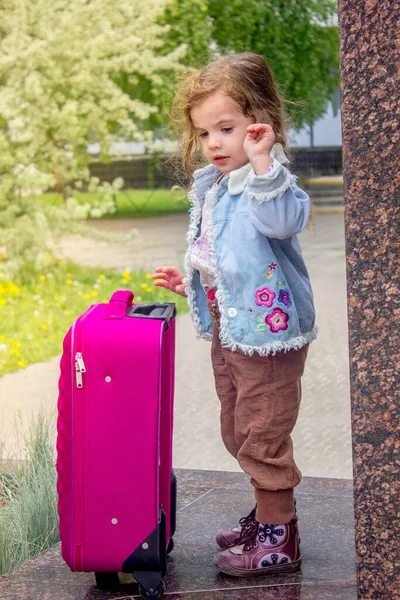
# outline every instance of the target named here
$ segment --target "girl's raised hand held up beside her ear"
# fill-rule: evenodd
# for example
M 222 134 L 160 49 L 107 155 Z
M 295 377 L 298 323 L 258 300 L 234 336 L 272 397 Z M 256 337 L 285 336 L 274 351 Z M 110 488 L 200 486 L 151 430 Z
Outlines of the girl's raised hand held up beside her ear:
M 243 147 L 257 175 L 264 175 L 272 164 L 270 151 L 275 139 L 276 136 L 271 125 L 253 123 L 247 127 Z

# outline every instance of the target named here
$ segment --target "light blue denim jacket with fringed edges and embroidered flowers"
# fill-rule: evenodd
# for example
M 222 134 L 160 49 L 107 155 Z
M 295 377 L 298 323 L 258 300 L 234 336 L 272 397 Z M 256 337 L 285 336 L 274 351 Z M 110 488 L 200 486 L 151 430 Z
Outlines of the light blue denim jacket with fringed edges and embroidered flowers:
M 222 345 L 262 356 L 301 348 L 317 334 L 310 279 L 296 235 L 307 224 L 310 199 L 276 158 L 264 176 L 257 176 L 250 163 L 218 184 L 220 176 L 212 164 L 197 170 L 189 192 L 184 283 L 198 337 L 211 339 L 213 323 L 190 259 L 208 193 Z

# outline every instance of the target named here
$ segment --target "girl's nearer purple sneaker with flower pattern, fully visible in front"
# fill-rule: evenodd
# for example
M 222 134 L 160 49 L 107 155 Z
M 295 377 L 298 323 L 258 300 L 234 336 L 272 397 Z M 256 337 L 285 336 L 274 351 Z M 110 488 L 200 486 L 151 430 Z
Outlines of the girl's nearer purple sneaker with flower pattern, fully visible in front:
M 297 516 L 286 525 L 247 524 L 237 544 L 216 554 L 214 564 L 234 577 L 297 571 L 301 566 Z

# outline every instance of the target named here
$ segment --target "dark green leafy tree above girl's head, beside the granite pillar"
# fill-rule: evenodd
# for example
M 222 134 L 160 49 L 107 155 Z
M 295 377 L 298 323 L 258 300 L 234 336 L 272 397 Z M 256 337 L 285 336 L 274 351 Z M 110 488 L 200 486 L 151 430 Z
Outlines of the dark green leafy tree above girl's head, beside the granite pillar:
M 336 0 L 209 0 L 208 14 L 220 52 L 268 60 L 296 127 L 325 113 L 339 86 Z

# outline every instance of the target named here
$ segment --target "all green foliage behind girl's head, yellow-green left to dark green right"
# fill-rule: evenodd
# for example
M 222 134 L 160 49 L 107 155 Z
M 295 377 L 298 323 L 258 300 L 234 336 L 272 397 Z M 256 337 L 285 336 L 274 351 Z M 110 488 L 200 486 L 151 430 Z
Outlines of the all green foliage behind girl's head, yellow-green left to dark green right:
M 231 52 L 265 56 L 300 128 L 324 114 L 339 85 L 336 15 L 335 0 L 172 0 L 160 19 L 170 25 L 162 51 L 185 44 L 180 62 L 190 66 Z M 168 77 L 164 107 L 172 95 Z

